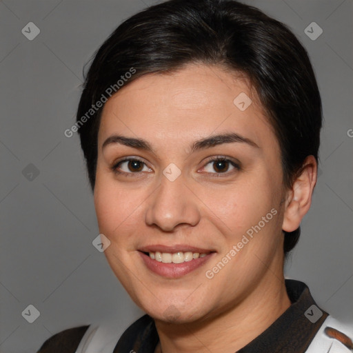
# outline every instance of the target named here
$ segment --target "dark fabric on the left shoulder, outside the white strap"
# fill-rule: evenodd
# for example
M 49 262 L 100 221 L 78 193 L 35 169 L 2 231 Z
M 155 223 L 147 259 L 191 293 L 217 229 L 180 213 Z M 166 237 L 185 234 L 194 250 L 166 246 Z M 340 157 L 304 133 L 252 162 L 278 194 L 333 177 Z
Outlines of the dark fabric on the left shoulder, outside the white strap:
M 37 353 L 74 353 L 90 325 L 72 327 L 47 339 Z

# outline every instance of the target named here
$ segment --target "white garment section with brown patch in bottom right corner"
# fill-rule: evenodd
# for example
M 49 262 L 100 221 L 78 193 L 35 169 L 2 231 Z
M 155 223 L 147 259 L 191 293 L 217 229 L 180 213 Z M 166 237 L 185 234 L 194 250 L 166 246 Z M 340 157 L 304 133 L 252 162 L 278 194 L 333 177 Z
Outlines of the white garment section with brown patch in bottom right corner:
M 305 353 L 350 353 L 353 350 L 352 339 L 353 323 L 341 323 L 329 315 Z

